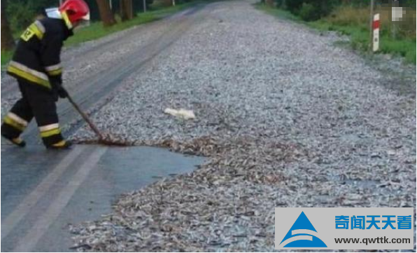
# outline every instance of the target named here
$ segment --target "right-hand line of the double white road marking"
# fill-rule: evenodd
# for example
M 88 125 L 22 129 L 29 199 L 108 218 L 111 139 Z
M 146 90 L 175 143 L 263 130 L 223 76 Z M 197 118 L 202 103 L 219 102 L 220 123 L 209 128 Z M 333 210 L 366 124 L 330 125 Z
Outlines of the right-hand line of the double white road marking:
M 13 249 L 13 252 L 31 252 L 34 249 L 39 239 L 48 231 L 50 224 L 61 214 L 62 210 L 68 205 L 73 194 L 84 182 L 90 172 L 96 167 L 101 156 L 106 153 L 107 148 L 99 148 L 94 151 L 89 158 L 81 165 L 81 167 L 73 176 L 71 181 L 62 189 L 57 198 L 48 207 L 48 210 L 43 213 L 41 217 L 36 221 L 33 227 L 30 228 L 29 232 L 24 235 L 17 242 L 17 246 Z

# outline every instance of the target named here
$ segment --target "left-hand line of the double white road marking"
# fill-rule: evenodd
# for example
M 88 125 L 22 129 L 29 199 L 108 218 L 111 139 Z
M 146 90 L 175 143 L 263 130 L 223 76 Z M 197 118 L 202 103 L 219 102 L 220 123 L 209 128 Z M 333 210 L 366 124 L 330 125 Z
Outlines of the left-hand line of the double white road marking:
M 49 173 L 48 177 L 45 177 L 42 182 L 38 184 L 38 186 L 36 186 L 36 188 L 31 191 L 19 205 L 17 205 L 15 210 L 8 214 L 8 217 L 6 217 L 4 221 L 1 221 L 1 240 L 3 240 L 23 217 L 31 211 L 34 205 L 38 203 L 38 200 L 49 191 L 50 187 L 55 184 L 66 168 L 76 160 L 84 149 L 85 146 L 77 146 L 71 150 L 71 152 Z

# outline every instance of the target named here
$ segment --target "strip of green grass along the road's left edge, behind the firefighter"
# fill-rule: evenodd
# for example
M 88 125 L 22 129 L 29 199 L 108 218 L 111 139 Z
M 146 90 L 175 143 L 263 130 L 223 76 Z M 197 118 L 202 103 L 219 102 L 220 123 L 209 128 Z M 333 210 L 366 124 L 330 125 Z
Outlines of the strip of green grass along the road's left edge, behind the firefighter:
M 176 13 L 178 11 L 182 11 L 185 8 L 195 6 L 196 4 L 200 4 L 202 2 L 203 1 L 192 1 L 189 3 L 177 4 L 176 6 L 169 7 L 158 5 L 155 7 L 151 7 L 150 11 L 147 11 L 146 13 L 136 13 L 136 17 L 132 20 L 120 22 L 120 18 L 116 17 L 118 23 L 116 25 L 106 28 L 103 27 L 103 25 L 101 25 L 101 22 L 92 22 L 90 23 L 90 25 L 86 27 L 80 27 L 80 29 L 77 29 L 75 35 L 71 36 L 67 41 L 65 41 L 64 46 L 76 46 L 79 43 L 100 39 L 101 37 L 122 31 L 124 29 L 128 29 L 130 27 L 134 27 L 136 25 L 143 25 L 148 22 L 160 20 L 161 18 L 164 18 L 167 15 Z M 16 32 L 15 34 L 13 34 L 13 36 L 15 36 L 15 39 L 18 39 L 20 34 L 21 32 Z M 2 50 L 1 66 L 3 67 L 5 64 L 7 64 L 12 56 L 13 51 Z

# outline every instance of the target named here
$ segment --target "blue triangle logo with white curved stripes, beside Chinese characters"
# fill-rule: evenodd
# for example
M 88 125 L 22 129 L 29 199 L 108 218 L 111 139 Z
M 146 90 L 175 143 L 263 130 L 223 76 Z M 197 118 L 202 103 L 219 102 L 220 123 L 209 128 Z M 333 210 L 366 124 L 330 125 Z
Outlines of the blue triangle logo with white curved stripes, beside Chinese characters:
M 301 212 L 279 245 L 284 243 L 283 247 L 327 247 L 317 234 L 309 218 Z

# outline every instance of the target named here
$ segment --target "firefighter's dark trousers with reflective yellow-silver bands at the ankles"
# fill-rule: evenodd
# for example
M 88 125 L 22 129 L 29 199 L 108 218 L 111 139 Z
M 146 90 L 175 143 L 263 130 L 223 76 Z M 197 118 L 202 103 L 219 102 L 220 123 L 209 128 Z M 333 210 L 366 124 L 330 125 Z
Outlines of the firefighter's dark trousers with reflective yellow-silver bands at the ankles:
M 63 140 L 58 125 L 57 95 L 34 83 L 18 80 L 22 98 L 17 100 L 1 125 L 1 135 L 8 139 L 17 138 L 32 118 L 36 119 L 43 144 L 50 146 Z

